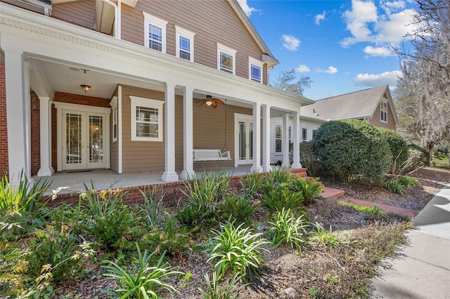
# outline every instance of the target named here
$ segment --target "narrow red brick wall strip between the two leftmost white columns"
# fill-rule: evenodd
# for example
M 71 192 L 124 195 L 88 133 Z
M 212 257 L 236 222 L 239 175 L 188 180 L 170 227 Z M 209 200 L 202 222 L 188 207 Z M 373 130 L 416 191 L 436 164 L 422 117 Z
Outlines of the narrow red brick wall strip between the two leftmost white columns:
M 37 175 L 41 168 L 41 119 L 40 100 L 31 92 L 31 175 Z

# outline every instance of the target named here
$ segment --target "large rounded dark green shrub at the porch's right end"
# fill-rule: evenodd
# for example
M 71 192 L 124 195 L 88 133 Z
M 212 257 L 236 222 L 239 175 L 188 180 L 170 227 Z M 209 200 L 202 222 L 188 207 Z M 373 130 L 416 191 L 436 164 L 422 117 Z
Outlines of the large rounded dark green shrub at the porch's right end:
M 329 121 L 311 144 L 323 166 L 340 180 L 379 179 L 391 161 L 389 144 L 366 121 Z

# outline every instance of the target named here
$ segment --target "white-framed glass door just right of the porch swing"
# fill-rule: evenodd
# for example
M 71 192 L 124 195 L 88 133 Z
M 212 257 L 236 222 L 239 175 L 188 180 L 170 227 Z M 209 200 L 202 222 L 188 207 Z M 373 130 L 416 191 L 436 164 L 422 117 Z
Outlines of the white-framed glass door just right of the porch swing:
M 253 163 L 253 117 L 235 114 L 235 164 Z

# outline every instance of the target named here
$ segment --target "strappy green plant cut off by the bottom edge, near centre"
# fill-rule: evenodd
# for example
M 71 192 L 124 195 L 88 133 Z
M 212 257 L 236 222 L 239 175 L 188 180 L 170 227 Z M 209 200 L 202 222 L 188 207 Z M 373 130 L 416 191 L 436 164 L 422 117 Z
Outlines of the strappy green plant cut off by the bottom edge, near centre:
M 205 274 L 205 280 L 207 286 L 206 291 L 203 288 L 198 288 L 203 299 L 238 299 L 239 291 L 247 286 L 247 284 L 240 284 L 238 286 L 240 281 L 239 274 L 234 274 L 230 277 L 226 281 L 225 286 L 219 286 L 216 272 L 212 274 L 212 279 L 210 279 L 208 274 Z

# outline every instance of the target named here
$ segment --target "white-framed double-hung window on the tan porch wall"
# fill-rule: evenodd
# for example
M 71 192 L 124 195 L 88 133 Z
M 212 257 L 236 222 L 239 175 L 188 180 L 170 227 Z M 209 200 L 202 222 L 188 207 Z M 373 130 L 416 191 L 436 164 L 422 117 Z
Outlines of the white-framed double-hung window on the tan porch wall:
M 131 99 L 131 140 L 162 141 L 162 105 L 164 101 L 140 98 Z

